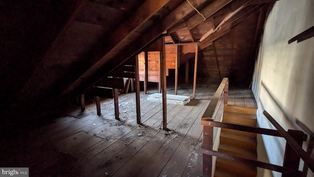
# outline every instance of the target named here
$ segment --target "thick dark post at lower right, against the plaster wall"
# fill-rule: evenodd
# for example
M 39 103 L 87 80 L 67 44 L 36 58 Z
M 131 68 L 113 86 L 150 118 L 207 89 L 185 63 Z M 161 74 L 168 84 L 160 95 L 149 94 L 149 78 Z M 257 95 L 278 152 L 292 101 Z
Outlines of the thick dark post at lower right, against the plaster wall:
M 300 138 L 304 135 L 302 131 L 288 130 L 288 134 L 298 143 L 300 147 L 302 147 L 303 139 Z M 283 167 L 298 171 L 299 164 L 300 164 L 300 157 L 287 142 Z M 282 177 L 291 177 L 291 174 L 283 173 Z

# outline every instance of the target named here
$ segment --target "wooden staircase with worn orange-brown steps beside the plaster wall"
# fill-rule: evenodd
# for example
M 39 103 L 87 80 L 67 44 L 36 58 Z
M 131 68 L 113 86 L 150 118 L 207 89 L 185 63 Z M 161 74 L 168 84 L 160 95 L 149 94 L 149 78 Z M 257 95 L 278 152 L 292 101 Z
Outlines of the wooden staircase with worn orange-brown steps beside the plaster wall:
M 257 125 L 255 108 L 224 106 L 222 122 L 241 125 Z M 221 129 L 218 151 L 257 160 L 256 133 Z M 217 158 L 214 177 L 256 177 L 257 168 L 251 164 Z

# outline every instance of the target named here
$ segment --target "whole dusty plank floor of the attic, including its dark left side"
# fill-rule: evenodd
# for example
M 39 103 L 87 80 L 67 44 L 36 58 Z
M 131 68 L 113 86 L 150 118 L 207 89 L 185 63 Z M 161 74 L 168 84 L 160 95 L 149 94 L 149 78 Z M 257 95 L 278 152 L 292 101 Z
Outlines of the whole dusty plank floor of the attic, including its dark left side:
M 83 114 L 77 106 L 60 118 L 12 131 L 12 138 L 2 142 L 0 166 L 29 167 L 32 177 L 202 176 L 200 118 L 218 84 L 199 83 L 196 99 L 185 106 L 168 104 L 169 132 L 160 129 L 160 104 L 147 101 L 149 94 L 143 92 L 142 125 L 136 124 L 134 93 L 119 95 L 121 121 L 114 118 L 112 99 L 102 100 L 101 116 L 95 104 Z M 178 94 L 191 95 L 192 87 L 180 86 Z M 228 104 L 255 107 L 246 89 L 231 88 Z

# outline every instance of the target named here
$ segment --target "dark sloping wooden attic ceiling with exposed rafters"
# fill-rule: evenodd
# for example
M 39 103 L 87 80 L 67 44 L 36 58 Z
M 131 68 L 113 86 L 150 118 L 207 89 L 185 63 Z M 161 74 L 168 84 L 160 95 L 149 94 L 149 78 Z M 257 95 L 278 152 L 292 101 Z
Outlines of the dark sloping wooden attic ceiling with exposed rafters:
M 1 108 L 12 118 L 55 109 L 160 35 L 166 43 L 198 42 L 198 76 L 248 85 L 274 1 L 1 1 Z

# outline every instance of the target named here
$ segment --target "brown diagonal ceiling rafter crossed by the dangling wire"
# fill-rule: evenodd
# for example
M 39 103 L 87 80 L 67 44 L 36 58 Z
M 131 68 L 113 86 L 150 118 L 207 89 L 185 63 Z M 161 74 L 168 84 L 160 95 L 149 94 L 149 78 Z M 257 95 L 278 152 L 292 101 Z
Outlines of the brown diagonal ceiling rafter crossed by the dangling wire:
M 233 0 L 214 0 L 208 6 L 203 8 L 200 11 L 200 13 L 207 19 L 212 14 L 217 12 L 219 9 L 221 9 L 222 7 L 224 7 L 225 5 L 230 3 L 231 1 L 233 1 Z M 188 19 L 186 22 L 171 27 L 171 29 L 169 29 L 169 32 L 172 33 L 172 32 L 175 32 L 177 30 L 180 30 L 180 29 L 183 29 L 186 27 L 188 29 L 192 29 L 192 28 L 196 27 L 198 24 L 202 23 L 203 21 L 204 21 L 204 18 L 200 14 L 197 13 L 194 16 L 192 16 L 190 19 Z

